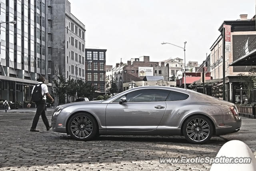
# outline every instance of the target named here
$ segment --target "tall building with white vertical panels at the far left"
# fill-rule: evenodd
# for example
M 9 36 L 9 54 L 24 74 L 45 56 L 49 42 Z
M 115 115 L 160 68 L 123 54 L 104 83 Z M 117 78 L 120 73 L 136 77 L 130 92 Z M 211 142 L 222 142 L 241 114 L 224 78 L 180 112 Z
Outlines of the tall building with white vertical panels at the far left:
M 36 78 L 47 76 L 47 0 L 1 0 L 0 99 L 28 101 Z M 16 24 L 11 22 L 16 20 Z

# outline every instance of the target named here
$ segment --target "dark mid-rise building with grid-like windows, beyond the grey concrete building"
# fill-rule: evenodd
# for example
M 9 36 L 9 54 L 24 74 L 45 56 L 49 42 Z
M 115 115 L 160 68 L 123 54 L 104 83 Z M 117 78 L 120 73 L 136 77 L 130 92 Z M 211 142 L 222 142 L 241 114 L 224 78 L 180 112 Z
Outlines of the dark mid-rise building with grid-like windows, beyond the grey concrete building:
M 85 49 L 85 80 L 101 93 L 106 92 L 106 51 L 106 49 Z

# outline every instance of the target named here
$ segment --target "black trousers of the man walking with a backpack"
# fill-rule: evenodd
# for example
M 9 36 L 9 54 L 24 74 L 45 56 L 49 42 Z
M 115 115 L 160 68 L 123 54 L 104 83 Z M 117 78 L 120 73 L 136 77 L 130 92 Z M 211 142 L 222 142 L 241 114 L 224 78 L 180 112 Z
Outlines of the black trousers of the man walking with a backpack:
M 40 102 L 36 102 L 36 115 L 35 115 L 33 123 L 32 123 L 32 127 L 31 127 L 32 129 L 36 129 L 36 125 L 38 123 L 40 115 L 43 119 L 43 122 L 44 122 L 44 125 L 46 126 L 46 128 L 49 127 L 49 122 L 48 122 L 48 119 L 45 115 L 44 109 L 45 109 L 45 100 L 42 100 Z

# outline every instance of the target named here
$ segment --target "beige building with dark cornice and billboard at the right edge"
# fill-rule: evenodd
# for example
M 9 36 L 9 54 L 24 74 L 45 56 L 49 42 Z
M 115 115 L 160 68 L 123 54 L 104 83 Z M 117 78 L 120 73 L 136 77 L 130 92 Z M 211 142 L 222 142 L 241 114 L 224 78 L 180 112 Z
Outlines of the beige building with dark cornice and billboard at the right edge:
M 230 52 L 225 52 L 223 61 L 223 25 L 231 25 Z M 255 66 L 229 66 L 230 63 L 256 49 L 255 17 L 247 19 L 247 15 L 240 15 L 240 20 L 224 21 L 218 29 L 221 35 L 211 46 L 211 72 L 216 84 L 212 87 L 212 95 L 223 99 L 223 71 L 225 72 L 225 100 L 240 103 L 240 89 L 243 89 L 238 74 L 248 74 L 250 68 Z M 225 64 L 225 65 L 223 65 Z M 225 67 L 224 67 L 225 66 Z M 219 81 L 221 80 L 221 81 Z M 243 89 L 243 93 L 246 90 Z

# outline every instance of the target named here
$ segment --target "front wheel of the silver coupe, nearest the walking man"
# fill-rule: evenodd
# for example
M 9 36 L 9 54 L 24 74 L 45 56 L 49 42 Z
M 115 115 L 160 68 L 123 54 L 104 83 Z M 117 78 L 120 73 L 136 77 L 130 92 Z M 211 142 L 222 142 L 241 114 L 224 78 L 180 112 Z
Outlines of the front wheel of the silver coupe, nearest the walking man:
M 73 139 L 89 141 L 98 134 L 97 121 L 88 113 L 76 113 L 68 122 L 68 133 Z

